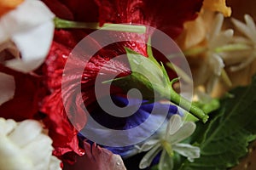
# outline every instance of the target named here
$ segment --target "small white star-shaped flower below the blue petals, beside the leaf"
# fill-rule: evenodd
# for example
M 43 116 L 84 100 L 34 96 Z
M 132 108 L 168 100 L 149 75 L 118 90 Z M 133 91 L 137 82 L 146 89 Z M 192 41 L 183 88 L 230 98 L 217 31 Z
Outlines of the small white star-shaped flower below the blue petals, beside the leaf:
M 141 147 L 140 151 L 148 151 L 143 156 L 139 167 L 150 166 L 154 157 L 162 150 L 160 156 L 159 169 L 172 170 L 173 151 L 182 156 L 186 156 L 189 161 L 194 161 L 200 157 L 200 149 L 191 144 L 179 144 L 183 139 L 187 139 L 195 131 L 195 122 L 183 122 L 181 116 L 174 115 L 167 124 L 166 132 L 159 138 L 149 139 Z

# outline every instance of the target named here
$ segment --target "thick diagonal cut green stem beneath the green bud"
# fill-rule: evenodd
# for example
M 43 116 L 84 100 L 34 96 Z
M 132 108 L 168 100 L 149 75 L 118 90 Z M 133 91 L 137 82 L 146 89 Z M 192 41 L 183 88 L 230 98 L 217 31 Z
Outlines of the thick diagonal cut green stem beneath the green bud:
M 177 82 L 179 79 L 174 78 L 170 82 L 171 84 L 171 101 L 176 104 L 180 105 L 184 110 L 189 111 L 192 115 L 196 116 L 197 118 L 201 119 L 202 122 L 207 122 L 209 116 L 205 114 L 204 111 L 202 111 L 199 107 L 197 107 L 195 104 L 191 103 L 189 100 L 184 99 L 179 94 L 176 93 L 176 91 L 172 88 L 172 84 L 174 82 Z

